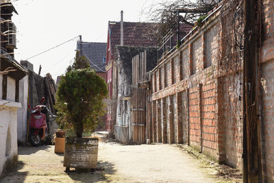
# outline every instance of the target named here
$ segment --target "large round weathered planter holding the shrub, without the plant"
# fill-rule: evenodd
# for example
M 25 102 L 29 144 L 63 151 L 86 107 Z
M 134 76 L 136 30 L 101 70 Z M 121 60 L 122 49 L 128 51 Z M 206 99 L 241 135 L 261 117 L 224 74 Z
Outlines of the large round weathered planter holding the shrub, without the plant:
M 98 138 L 66 137 L 64 167 L 95 169 L 97 167 Z

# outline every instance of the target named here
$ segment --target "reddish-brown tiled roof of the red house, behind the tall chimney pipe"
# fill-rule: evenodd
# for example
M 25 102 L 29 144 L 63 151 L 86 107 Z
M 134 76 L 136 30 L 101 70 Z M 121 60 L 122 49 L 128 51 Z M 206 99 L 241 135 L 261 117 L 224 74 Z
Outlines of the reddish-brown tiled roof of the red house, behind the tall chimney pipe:
M 114 54 L 114 47 L 120 45 L 121 41 L 121 24 L 120 22 L 109 22 L 110 44 L 112 54 Z M 156 31 L 157 25 L 155 23 L 123 23 L 124 45 L 132 47 L 153 47 L 157 46 L 157 40 L 153 38 L 153 31 Z

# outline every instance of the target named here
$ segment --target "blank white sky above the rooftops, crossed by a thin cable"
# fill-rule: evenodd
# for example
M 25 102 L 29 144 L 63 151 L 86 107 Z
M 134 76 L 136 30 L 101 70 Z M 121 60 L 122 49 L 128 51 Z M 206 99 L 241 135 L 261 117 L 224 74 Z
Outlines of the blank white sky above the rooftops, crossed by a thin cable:
M 66 40 L 82 35 L 88 42 L 106 42 L 108 21 L 146 21 L 141 11 L 161 0 L 18 0 L 13 1 L 18 15 L 12 20 L 17 27 L 15 59 L 25 60 Z M 77 39 L 29 59 L 41 75 L 51 73 L 55 80 L 64 73 L 75 56 Z

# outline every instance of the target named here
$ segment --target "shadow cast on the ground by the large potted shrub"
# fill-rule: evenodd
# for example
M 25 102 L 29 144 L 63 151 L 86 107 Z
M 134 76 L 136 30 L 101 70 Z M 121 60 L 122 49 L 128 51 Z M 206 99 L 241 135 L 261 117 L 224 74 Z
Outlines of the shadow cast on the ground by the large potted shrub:
M 111 162 L 105 162 L 102 160 L 98 161 L 97 169 L 78 173 L 77 171 L 66 172 L 69 177 L 76 182 L 110 182 L 110 175 L 116 173 L 114 169 L 114 164 Z

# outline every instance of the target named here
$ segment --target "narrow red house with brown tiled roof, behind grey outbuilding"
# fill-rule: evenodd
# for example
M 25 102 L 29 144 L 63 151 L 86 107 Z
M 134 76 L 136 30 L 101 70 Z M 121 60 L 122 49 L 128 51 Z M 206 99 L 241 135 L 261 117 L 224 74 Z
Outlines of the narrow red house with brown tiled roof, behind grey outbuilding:
M 121 34 L 123 29 L 123 34 Z M 132 23 L 132 22 L 108 22 L 108 41 L 105 71 L 108 84 L 108 114 L 107 130 L 114 132 L 116 123 L 116 108 L 118 99 L 118 64 L 116 45 L 130 47 L 153 47 L 157 46 L 155 39 L 152 39 L 152 32 L 155 31 L 155 23 Z M 121 40 L 123 41 L 121 44 Z

